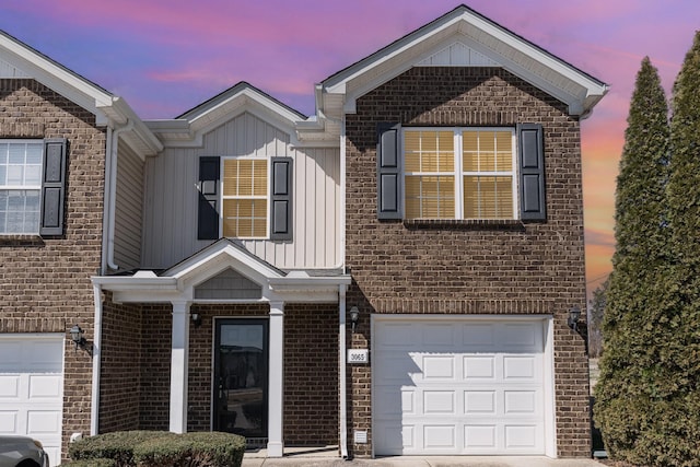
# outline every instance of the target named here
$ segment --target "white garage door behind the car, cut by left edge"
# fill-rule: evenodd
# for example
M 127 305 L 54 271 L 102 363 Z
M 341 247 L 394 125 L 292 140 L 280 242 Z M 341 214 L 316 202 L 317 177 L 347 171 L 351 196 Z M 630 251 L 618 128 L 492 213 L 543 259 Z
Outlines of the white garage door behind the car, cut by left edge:
M 0 434 L 42 442 L 60 464 L 63 339 L 58 335 L 0 335 Z

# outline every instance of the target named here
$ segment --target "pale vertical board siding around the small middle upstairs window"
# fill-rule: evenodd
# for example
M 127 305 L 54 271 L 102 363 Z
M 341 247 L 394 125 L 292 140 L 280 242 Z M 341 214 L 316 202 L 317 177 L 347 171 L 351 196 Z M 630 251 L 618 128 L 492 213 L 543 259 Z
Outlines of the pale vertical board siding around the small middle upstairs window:
M 213 242 L 197 240 L 199 157 L 212 155 L 292 157 L 293 240 L 243 245 L 281 269 L 338 267 L 339 150 L 292 148 L 287 132 L 244 113 L 205 135 L 201 148 L 168 147 L 147 159 L 142 268 L 171 267 Z

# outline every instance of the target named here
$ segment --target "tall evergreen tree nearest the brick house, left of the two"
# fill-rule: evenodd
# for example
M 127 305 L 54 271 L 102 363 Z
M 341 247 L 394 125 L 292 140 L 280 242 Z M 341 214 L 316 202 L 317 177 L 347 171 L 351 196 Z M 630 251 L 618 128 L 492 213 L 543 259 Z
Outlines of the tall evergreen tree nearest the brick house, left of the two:
M 648 465 L 640 442 L 655 436 L 653 404 L 658 339 L 667 335 L 662 284 L 668 261 L 665 189 L 668 106 L 656 68 L 644 58 L 630 102 L 617 179 L 612 273 L 603 323 L 604 351 L 595 388 L 595 420 L 609 455 Z

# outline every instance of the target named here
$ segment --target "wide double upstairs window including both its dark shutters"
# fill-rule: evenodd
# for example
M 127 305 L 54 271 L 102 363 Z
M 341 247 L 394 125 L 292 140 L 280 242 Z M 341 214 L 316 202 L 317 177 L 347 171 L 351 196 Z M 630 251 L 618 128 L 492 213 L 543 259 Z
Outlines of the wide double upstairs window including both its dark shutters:
M 381 124 L 377 217 L 546 220 L 542 127 Z

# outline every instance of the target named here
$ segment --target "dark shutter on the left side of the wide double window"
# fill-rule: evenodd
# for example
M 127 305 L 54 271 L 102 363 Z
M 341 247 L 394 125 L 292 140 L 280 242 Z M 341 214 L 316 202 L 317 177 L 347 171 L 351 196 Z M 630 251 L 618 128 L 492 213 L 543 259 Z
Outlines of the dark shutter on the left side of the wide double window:
M 404 180 L 399 124 L 380 124 L 376 145 L 376 188 L 378 219 L 404 217 Z

